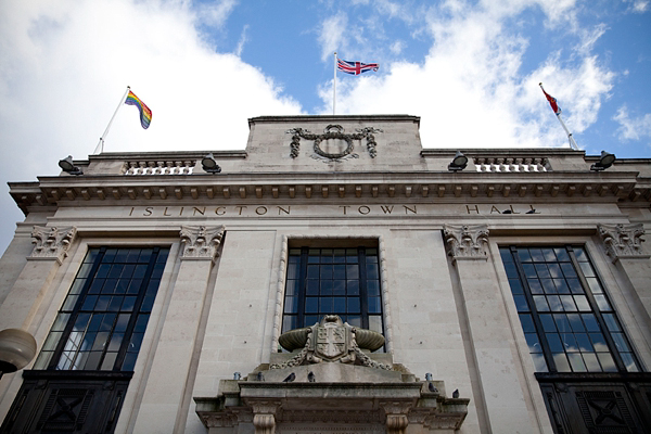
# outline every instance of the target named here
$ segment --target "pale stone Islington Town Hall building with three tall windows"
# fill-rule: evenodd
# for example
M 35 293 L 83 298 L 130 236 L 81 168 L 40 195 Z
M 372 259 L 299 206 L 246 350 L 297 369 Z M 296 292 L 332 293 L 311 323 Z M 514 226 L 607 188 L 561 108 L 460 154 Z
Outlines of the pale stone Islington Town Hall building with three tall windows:
M 651 161 L 419 123 L 10 182 L 0 433 L 651 432 Z

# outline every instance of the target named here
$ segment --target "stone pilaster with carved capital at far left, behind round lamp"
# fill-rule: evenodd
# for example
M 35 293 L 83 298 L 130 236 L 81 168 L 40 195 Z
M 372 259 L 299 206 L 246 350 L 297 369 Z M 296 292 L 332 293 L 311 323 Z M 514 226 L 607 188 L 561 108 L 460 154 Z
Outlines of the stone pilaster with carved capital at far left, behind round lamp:
M 35 226 L 35 247 L 4 303 L 0 306 L 0 330 L 18 328 L 35 332 L 34 315 L 51 298 L 52 281 L 75 241 L 77 229 Z

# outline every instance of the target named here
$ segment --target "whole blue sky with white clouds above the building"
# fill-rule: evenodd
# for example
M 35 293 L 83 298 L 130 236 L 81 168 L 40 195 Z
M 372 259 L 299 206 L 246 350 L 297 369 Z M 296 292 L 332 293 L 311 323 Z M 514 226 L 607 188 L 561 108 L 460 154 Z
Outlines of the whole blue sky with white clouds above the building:
M 86 158 L 127 85 L 106 151 L 224 150 L 246 118 L 331 114 L 333 51 L 376 62 L 337 75 L 337 114 L 421 116 L 425 148 L 567 146 L 651 156 L 651 0 L 3 0 L 0 153 L 7 181 Z M 23 219 L 0 190 L 3 251 Z

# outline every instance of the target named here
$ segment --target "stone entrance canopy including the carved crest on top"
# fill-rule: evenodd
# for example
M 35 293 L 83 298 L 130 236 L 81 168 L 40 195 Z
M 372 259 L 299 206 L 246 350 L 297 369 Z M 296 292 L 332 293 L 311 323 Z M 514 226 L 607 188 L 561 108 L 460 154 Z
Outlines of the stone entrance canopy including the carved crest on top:
M 470 399 L 448 398 L 442 381 L 421 381 L 391 355 L 370 353 L 383 339 L 367 332 L 336 316 L 290 331 L 280 341 L 293 353 L 272 354 L 243 380 L 221 380 L 218 396 L 194 398 L 196 413 L 209 433 L 458 430 Z

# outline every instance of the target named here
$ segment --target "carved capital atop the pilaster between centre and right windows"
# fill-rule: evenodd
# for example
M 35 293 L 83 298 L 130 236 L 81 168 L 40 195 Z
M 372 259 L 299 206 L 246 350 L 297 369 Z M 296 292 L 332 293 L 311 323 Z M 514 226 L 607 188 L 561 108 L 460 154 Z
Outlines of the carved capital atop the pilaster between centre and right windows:
M 448 254 L 458 259 L 487 259 L 487 225 L 444 225 L 443 234 L 449 246 Z

